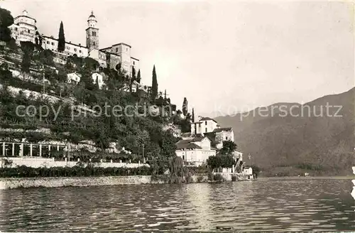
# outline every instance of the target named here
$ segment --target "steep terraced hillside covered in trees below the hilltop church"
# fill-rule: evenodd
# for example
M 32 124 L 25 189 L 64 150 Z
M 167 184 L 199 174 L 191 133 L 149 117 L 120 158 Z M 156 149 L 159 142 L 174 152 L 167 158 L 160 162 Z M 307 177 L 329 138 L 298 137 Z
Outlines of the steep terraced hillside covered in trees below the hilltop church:
M 176 131 L 185 119 L 158 92 L 158 83 L 133 90 L 140 82 L 134 72 L 129 76 L 121 68 L 102 68 L 92 58 L 63 57 L 28 41 L 18 44 L 7 28 L 12 16 L 0 12 L 0 19 L 5 13 L 9 18 L 5 24 L 0 21 L 0 31 L 7 34 L 0 35 L 0 141 L 69 145 L 74 160 L 147 159 L 156 173 L 166 170 L 168 159 L 175 156 Z M 72 73 L 81 77 L 77 84 L 67 82 Z M 102 75 L 102 87 L 93 74 Z M 18 156 L 18 145 L 2 145 L 1 156 Z M 23 154 L 28 155 L 28 147 Z M 33 147 L 33 156 L 38 156 L 38 145 Z M 58 153 L 42 151 L 58 159 L 66 154 L 62 148 Z

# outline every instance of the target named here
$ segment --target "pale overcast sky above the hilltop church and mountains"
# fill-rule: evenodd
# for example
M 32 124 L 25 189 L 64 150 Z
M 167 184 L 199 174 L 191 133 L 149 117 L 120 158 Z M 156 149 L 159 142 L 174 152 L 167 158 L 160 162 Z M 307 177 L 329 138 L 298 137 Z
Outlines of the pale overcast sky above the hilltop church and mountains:
M 304 103 L 354 87 L 354 5 L 335 1 L 0 1 L 23 9 L 40 33 L 85 43 L 98 20 L 100 48 L 128 43 L 142 82 L 196 114 L 275 102 Z

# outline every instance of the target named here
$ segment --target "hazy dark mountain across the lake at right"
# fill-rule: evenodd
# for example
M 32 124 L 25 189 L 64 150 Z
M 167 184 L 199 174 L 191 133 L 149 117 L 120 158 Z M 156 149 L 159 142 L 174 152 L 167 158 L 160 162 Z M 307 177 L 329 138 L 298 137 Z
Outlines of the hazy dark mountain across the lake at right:
M 354 92 L 355 88 L 303 105 L 278 103 L 215 119 L 221 126 L 233 127 L 234 140 L 247 163 L 250 153 L 251 163 L 266 170 L 293 167 L 351 174 L 355 165 Z

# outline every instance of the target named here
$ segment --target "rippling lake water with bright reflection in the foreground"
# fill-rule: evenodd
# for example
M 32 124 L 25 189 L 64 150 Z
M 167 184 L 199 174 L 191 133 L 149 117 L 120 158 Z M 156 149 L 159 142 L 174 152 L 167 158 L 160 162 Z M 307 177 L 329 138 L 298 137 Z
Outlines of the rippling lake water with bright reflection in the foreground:
M 351 180 L 0 190 L 0 231 L 355 229 Z

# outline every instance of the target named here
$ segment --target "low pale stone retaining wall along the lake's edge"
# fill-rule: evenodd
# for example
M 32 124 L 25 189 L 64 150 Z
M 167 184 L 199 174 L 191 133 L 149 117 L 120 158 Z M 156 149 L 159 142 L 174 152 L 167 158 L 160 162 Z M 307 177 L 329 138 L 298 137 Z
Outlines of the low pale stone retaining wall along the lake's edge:
M 225 174 L 224 180 L 230 181 L 231 174 Z M 236 175 L 237 181 L 248 180 L 246 175 Z M 191 183 L 214 183 L 207 175 L 192 175 Z M 149 185 L 168 184 L 163 176 L 123 175 L 123 176 L 88 176 L 88 177 L 48 177 L 48 178 L 0 178 L 0 190 L 16 188 L 58 188 L 58 187 L 88 187 L 112 185 Z

